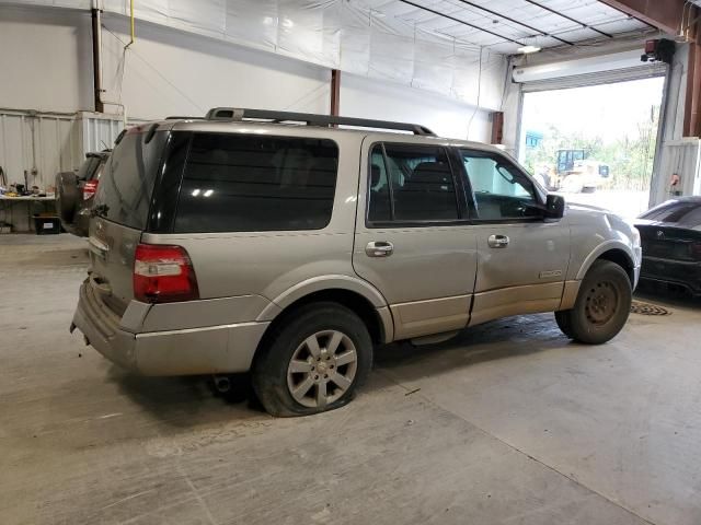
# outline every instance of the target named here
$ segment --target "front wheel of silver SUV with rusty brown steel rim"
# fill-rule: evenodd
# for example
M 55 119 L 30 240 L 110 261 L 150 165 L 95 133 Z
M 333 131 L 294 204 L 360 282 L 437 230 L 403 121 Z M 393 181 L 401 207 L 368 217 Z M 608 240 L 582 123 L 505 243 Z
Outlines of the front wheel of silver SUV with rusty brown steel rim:
M 558 326 L 577 342 L 601 345 L 625 325 L 632 296 L 625 270 L 616 262 L 597 260 L 582 281 L 574 307 L 555 312 Z

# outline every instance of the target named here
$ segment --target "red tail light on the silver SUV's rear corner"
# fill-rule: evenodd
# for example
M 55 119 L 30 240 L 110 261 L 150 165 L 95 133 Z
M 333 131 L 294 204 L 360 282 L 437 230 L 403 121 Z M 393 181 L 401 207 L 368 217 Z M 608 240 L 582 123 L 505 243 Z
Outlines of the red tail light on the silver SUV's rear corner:
M 134 260 L 134 296 L 145 303 L 199 299 L 187 252 L 181 246 L 139 244 Z

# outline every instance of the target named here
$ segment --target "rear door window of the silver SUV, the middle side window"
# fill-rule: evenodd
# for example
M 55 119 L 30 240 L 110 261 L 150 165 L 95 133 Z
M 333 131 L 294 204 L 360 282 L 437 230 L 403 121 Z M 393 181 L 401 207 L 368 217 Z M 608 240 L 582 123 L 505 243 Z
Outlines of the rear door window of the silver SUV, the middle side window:
M 370 152 L 370 222 L 436 222 L 459 218 L 444 148 L 376 144 Z

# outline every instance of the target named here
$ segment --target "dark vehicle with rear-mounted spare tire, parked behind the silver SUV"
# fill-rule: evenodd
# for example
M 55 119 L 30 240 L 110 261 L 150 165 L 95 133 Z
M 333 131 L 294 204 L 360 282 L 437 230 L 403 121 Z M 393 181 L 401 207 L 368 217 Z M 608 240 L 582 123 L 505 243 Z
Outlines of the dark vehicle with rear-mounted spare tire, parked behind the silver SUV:
M 61 226 L 68 233 L 88 236 L 90 209 L 94 200 L 102 168 L 111 150 L 87 153 L 78 172 L 61 172 L 56 175 L 56 211 Z

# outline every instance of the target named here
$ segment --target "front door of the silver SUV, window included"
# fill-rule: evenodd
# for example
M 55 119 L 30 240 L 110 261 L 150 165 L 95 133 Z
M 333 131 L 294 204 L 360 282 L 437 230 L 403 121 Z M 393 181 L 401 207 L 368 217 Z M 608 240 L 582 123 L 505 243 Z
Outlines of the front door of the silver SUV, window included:
M 460 150 L 473 195 L 478 275 L 470 325 L 558 310 L 570 262 L 570 229 L 545 222 L 544 196 L 506 156 Z

